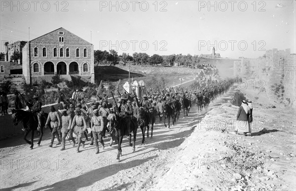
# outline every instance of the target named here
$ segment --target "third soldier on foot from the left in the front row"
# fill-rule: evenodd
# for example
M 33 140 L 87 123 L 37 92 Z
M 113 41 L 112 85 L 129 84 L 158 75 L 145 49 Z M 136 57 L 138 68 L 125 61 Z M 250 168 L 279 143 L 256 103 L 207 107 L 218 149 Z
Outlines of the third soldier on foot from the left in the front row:
M 73 118 L 71 125 L 71 129 L 72 131 L 74 131 L 78 142 L 77 153 L 79 153 L 80 144 L 82 144 L 82 148 L 84 148 L 84 141 L 82 141 L 82 135 L 84 134 L 87 127 L 84 117 L 80 114 L 81 111 L 77 108 L 75 110 L 75 116 Z

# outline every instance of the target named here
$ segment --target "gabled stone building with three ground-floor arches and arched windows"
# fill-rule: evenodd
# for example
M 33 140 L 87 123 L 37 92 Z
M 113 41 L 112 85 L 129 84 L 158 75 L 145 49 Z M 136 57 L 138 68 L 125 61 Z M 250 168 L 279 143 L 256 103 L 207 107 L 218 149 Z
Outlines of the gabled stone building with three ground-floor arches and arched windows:
M 68 80 L 81 76 L 94 83 L 93 44 L 62 27 L 27 42 L 23 47 L 23 75 L 27 83 L 51 81 L 56 74 Z

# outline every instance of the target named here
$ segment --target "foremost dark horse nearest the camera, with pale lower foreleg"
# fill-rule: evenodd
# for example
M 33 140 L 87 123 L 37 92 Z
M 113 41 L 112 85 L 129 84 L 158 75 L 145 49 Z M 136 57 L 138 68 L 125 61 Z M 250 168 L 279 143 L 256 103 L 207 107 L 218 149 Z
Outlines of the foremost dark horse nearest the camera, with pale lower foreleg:
M 115 129 L 115 137 L 118 144 L 116 161 L 119 162 L 120 160 L 119 156 L 122 156 L 122 149 L 121 149 L 122 139 L 123 139 L 123 136 L 127 134 L 126 123 L 127 123 L 127 120 L 129 119 L 127 119 L 128 116 L 127 117 L 119 116 L 119 115 L 115 115 L 115 116 L 116 116 L 116 119 L 114 121 L 114 129 Z M 131 143 L 131 139 L 129 139 L 129 146 L 133 147 L 133 153 L 136 151 L 136 137 L 137 137 L 137 129 L 138 129 L 138 126 L 135 123 L 136 123 L 135 119 L 131 118 L 130 124 L 131 124 L 131 132 L 133 132 L 133 135 L 134 135 L 134 146 Z

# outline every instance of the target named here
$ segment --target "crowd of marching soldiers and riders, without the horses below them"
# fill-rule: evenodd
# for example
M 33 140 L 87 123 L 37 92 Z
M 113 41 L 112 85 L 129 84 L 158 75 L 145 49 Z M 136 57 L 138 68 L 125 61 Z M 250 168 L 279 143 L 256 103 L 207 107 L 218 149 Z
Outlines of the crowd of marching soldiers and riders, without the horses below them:
M 50 147 L 52 147 L 55 136 L 57 136 L 58 143 L 61 144 L 64 151 L 66 138 L 72 140 L 73 147 L 76 142 L 73 137 L 73 132 L 75 133 L 77 139 L 77 153 L 79 153 L 80 145 L 84 148 L 85 141 L 82 140 L 84 135 L 86 141 L 88 141 L 87 127 L 91 128 L 90 132 L 90 144 L 95 144 L 96 153 L 99 153 L 98 140 L 102 145 L 104 150 L 105 144 L 103 138 L 106 137 L 106 131 L 108 136 L 111 137 L 110 146 L 112 146 L 113 141 L 117 144 L 115 138 L 115 130 L 113 128 L 115 122 L 115 115 L 129 115 L 130 117 L 138 117 L 138 107 L 144 107 L 147 111 L 153 112 L 154 115 L 159 116 L 159 120 L 163 115 L 163 108 L 166 104 L 174 107 L 173 103 L 175 101 L 181 102 L 183 97 L 195 101 L 199 96 L 208 97 L 212 101 L 219 94 L 227 91 L 229 87 L 233 84 L 231 80 L 225 81 L 224 83 L 212 83 L 209 85 L 195 85 L 190 87 L 190 90 L 185 87 L 185 91 L 181 87 L 163 89 L 162 91 L 147 91 L 147 94 L 143 95 L 143 99 L 140 99 L 138 104 L 136 99 L 131 98 L 131 95 L 124 91 L 124 94 L 118 95 L 117 107 L 115 106 L 115 100 L 112 104 L 108 102 L 108 96 L 103 93 L 102 97 L 99 97 L 98 101 L 93 101 L 88 107 L 83 98 L 78 98 L 78 90 L 73 93 L 73 97 L 70 98 L 70 104 L 63 104 L 59 107 L 58 111 L 55 110 L 53 106 L 50 107 L 50 113 L 47 117 L 45 128 L 50 124 L 52 128 L 52 137 Z M 129 128 L 129 127 L 128 127 Z M 128 132 L 130 132 L 128 130 Z M 130 139 L 130 134 L 127 134 L 127 138 Z

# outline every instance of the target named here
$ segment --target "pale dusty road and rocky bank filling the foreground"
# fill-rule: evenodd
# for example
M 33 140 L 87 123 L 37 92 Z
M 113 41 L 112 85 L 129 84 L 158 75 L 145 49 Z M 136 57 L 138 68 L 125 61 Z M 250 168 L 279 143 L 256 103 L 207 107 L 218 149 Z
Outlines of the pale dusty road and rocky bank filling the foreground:
M 240 93 L 253 101 L 252 137 L 232 133 Z M 89 145 L 76 153 L 68 141 L 63 152 L 61 146 L 50 148 L 48 129 L 33 150 L 20 136 L 6 139 L 0 142 L 0 188 L 296 190 L 295 116 L 295 108 L 268 100 L 265 92 L 235 86 L 207 111 L 198 114 L 193 107 L 189 116 L 182 114 L 171 129 L 157 121 L 144 146 L 138 129 L 136 152 L 124 140 L 119 163 L 116 146 L 100 148 L 99 154 Z

